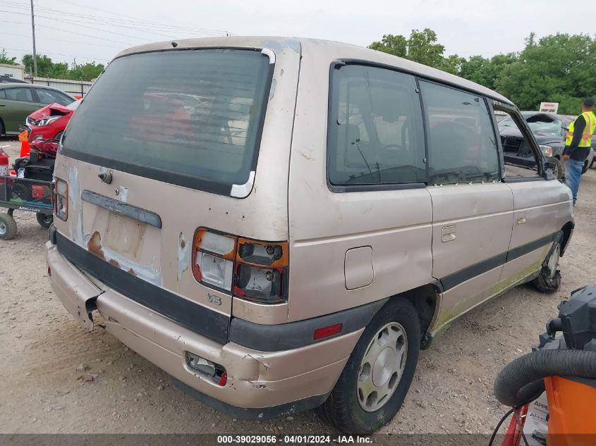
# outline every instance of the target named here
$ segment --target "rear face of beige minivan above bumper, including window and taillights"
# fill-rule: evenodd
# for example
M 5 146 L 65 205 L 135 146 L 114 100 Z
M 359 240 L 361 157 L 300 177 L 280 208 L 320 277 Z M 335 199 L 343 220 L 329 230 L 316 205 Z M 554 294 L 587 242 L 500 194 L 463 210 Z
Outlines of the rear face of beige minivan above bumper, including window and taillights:
M 251 309 L 274 304 L 276 322 L 287 321 L 279 166 L 289 159 L 300 46 L 274 53 L 257 40 L 118 56 L 73 116 L 55 172 L 59 252 L 99 290 L 219 344 L 229 340 L 233 299 L 238 317 L 262 321 Z M 279 193 L 257 196 L 257 185 Z M 255 280 L 268 291 L 251 288 Z M 75 313 L 85 316 L 95 297 Z

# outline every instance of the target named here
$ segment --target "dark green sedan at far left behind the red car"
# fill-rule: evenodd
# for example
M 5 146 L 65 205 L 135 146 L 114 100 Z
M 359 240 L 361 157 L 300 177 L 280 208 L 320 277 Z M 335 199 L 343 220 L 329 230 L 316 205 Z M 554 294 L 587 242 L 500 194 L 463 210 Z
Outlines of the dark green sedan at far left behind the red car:
M 20 83 L 0 84 L 0 135 L 18 135 L 30 113 L 54 102 L 66 106 L 75 99 L 59 89 Z

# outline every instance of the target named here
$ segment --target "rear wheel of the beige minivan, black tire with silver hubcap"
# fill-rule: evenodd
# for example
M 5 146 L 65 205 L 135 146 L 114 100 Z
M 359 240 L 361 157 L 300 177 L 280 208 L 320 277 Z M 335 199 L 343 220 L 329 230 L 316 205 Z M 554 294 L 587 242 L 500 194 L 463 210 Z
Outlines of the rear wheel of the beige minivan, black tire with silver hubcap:
M 368 323 L 319 414 L 350 435 L 369 434 L 389 423 L 408 393 L 419 351 L 420 323 L 413 304 L 390 299 Z

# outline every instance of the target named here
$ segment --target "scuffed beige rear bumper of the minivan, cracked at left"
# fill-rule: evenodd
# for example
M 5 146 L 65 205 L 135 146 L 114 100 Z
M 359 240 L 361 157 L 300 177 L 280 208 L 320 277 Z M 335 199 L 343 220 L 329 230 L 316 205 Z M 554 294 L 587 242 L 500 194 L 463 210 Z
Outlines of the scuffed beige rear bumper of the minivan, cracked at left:
M 245 419 L 265 419 L 320 405 L 334 387 L 363 328 L 294 349 L 262 352 L 234 342 L 220 344 L 114 290 L 102 291 L 47 245 L 51 285 L 65 308 L 87 329 L 97 308 L 109 333 L 169 373 L 178 387 L 202 402 Z M 186 352 L 221 364 L 219 386 L 193 371 Z

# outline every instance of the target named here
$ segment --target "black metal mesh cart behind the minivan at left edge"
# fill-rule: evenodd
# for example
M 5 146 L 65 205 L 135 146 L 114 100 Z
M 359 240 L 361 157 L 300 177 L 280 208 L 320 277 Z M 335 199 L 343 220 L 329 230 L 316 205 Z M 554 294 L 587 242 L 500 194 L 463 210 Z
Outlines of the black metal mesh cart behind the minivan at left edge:
M 15 210 L 35 212 L 37 223 L 49 228 L 54 221 L 54 182 L 18 178 L 14 175 L 0 176 L 0 240 L 16 236 L 17 226 L 13 218 Z

